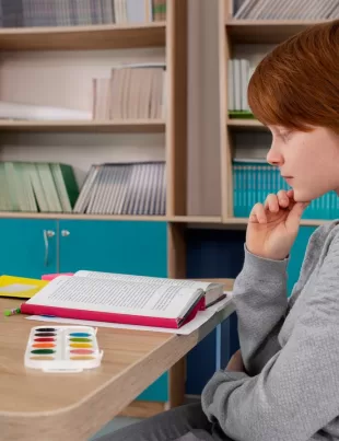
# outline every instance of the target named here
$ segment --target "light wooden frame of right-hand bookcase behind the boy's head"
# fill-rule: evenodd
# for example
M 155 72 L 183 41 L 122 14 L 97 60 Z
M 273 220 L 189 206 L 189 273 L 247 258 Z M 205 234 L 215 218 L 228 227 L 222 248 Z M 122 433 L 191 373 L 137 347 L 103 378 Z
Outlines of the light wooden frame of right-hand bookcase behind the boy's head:
M 237 2 L 239 3 L 239 2 Z M 227 62 L 231 58 L 246 54 L 256 61 L 274 45 L 322 20 L 235 20 L 232 16 L 232 0 L 219 0 L 219 86 L 220 86 L 220 142 L 222 223 L 245 225 L 247 218 L 234 216 L 232 160 L 235 155 L 235 135 L 268 134 L 267 128 L 255 119 L 229 117 Z M 262 49 L 264 48 L 264 49 Z M 264 53 L 262 53 L 264 51 Z M 303 227 L 318 227 L 323 219 L 303 219 Z

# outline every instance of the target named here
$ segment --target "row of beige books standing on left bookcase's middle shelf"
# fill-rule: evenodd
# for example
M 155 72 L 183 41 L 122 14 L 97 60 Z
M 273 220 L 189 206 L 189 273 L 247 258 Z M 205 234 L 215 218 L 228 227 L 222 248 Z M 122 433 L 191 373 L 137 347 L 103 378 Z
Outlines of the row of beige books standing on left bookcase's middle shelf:
M 130 65 L 93 80 L 93 119 L 165 117 L 165 65 Z

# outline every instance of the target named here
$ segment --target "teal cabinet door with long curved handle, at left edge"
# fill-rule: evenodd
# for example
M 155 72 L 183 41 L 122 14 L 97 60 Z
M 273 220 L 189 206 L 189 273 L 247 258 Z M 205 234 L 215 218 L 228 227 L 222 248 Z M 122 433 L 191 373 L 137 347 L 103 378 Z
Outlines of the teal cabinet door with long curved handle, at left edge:
M 57 222 L 0 219 L 0 272 L 39 279 L 57 271 Z

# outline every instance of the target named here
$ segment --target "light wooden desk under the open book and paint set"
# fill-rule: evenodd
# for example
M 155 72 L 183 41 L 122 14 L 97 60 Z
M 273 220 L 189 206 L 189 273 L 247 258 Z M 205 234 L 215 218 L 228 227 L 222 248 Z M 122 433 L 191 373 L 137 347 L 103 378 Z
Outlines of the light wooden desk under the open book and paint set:
M 225 288 L 232 289 L 232 280 Z M 24 367 L 30 329 L 37 322 L 2 315 L 19 304 L 0 299 L 2 441 L 89 439 L 234 311 L 227 306 L 188 336 L 100 328 L 101 368 L 81 374 L 47 374 Z

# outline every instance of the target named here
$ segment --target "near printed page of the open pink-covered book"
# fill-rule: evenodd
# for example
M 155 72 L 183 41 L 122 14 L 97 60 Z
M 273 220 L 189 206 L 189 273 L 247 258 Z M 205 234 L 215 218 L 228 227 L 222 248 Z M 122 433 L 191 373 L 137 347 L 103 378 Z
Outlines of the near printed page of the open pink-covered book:
M 168 285 L 60 276 L 34 295 L 28 303 L 178 318 L 202 294 L 202 290 Z

